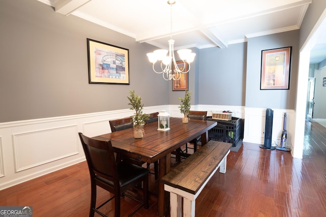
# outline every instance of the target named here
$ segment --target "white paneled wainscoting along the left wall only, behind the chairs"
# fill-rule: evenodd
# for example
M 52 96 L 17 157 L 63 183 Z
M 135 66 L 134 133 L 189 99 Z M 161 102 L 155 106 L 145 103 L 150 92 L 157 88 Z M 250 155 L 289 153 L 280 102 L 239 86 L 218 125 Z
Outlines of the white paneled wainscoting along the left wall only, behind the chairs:
M 169 106 L 143 110 L 169 111 Z M 132 114 L 122 109 L 0 123 L 0 190 L 85 161 L 77 133 L 110 133 L 108 120 Z

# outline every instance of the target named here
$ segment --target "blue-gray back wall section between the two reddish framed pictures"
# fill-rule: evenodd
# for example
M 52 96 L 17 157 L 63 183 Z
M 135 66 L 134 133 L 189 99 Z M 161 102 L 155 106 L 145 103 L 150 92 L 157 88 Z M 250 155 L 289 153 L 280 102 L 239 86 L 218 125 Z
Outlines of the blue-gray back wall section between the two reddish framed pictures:
M 199 104 L 244 106 L 247 43 L 201 49 Z

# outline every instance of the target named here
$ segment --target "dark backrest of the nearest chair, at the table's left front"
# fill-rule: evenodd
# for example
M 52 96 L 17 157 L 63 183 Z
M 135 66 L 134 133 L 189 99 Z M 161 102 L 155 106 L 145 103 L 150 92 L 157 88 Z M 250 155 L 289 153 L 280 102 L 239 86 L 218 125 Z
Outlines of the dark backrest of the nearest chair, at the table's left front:
M 86 156 L 91 179 L 96 176 L 118 184 L 117 164 L 110 140 L 101 141 L 78 133 Z

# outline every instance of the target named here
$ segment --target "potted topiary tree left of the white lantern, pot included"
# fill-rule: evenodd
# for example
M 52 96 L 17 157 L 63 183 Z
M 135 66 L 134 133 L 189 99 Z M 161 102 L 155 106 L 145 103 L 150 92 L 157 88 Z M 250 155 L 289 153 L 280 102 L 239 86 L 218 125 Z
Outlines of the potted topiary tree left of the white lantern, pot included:
M 149 117 L 149 114 L 143 113 L 144 104 L 142 103 L 142 97 L 140 95 L 135 95 L 134 90 L 129 90 L 130 97 L 127 97 L 129 100 L 128 105 L 131 106 L 130 110 L 134 110 L 134 115 L 131 115 L 133 123 L 133 135 L 135 139 L 141 139 L 144 137 L 143 126 L 146 123 L 146 120 Z

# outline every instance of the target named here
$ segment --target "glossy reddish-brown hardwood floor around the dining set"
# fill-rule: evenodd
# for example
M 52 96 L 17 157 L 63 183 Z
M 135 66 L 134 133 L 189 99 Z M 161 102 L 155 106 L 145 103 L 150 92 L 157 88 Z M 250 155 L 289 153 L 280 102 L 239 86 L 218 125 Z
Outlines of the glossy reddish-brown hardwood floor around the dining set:
M 150 189 L 157 181 L 150 175 Z M 109 195 L 98 189 L 99 202 Z M 88 216 L 86 162 L 0 191 L 0 206 L 33 206 L 33 216 Z M 122 216 L 137 206 L 122 199 Z M 102 207 L 113 216 L 114 205 Z M 134 216 L 156 216 L 157 203 Z M 95 216 L 98 216 L 95 214 Z M 244 143 L 230 152 L 226 174 L 216 173 L 196 200 L 196 216 L 326 216 L 326 128 L 306 122 L 303 159 Z

